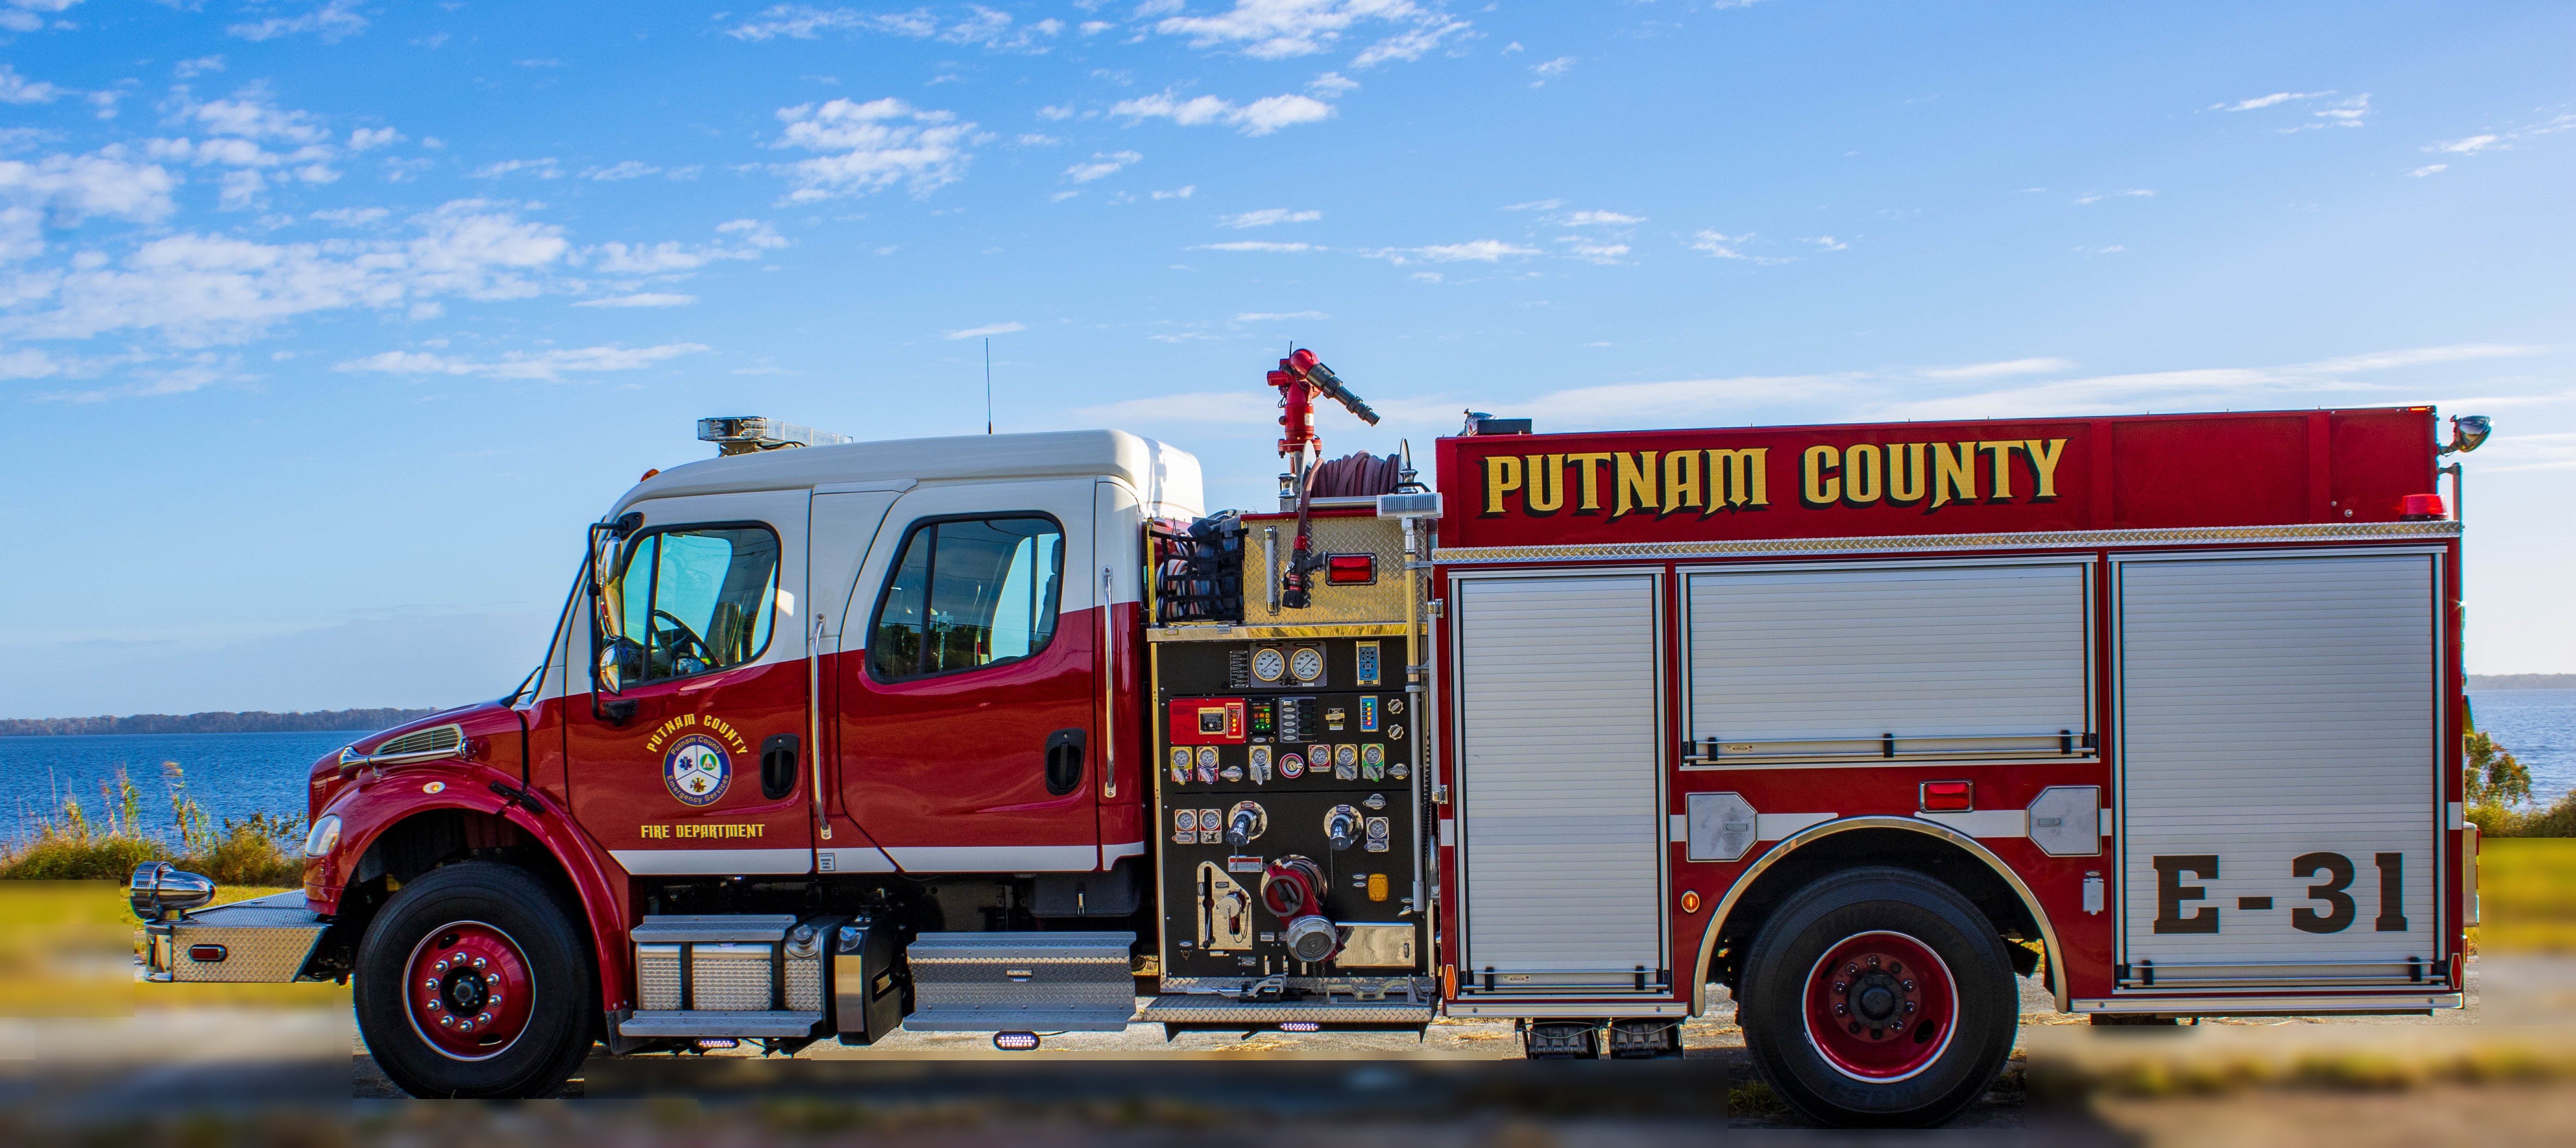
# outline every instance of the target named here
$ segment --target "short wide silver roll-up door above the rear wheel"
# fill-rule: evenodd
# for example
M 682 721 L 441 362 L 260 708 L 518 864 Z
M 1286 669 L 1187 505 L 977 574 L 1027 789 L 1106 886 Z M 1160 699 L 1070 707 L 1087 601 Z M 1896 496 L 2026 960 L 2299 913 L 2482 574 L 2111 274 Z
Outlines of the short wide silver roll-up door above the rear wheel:
M 2089 566 L 1690 574 L 1687 764 L 2094 757 Z

